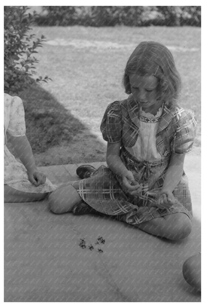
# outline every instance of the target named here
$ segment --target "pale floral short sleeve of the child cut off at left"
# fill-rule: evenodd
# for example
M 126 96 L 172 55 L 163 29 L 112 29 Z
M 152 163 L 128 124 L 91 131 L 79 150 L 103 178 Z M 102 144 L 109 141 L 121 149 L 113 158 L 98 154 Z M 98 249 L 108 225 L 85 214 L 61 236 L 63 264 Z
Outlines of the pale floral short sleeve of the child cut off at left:
M 26 134 L 24 106 L 21 98 L 18 96 L 13 96 L 11 100 L 7 131 L 15 137 Z

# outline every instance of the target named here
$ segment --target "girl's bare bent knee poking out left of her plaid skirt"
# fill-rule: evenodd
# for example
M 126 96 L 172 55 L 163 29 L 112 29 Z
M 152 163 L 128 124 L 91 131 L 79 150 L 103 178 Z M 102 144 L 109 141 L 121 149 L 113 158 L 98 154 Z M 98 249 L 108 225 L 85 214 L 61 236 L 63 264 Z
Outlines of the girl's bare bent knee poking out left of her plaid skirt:
M 56 214 L 70 212 L 80 201 L 82 198 L 70 184 L 59 187 L 48 197 L 50 210 Z

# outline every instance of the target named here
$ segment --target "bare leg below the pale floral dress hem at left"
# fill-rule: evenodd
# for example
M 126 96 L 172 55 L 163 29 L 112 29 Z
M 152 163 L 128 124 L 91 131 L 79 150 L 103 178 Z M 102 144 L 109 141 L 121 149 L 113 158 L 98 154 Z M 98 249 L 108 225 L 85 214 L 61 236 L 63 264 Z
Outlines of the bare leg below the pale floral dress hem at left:
M 4 185 L 4 202 L 31 202 L 44 199 L 49 192 L 45 193 L 33 193 L 33 192 L 21 192 L 14 188 Z

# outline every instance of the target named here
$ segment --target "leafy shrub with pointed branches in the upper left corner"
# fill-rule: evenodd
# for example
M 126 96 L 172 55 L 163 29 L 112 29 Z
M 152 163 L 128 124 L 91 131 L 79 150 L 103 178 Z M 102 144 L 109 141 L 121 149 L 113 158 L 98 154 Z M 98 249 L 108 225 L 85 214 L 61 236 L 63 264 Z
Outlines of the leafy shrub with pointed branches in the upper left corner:
M 45 37 L 34 39 L 31 25 L 37 14 L 28 13 L 28 9 L 28 6 L 4 6 L 4 91 L 9 94 L 18 94 L 33 82 L 50 79 L 32 78 L 38 63 L 34 54 Z

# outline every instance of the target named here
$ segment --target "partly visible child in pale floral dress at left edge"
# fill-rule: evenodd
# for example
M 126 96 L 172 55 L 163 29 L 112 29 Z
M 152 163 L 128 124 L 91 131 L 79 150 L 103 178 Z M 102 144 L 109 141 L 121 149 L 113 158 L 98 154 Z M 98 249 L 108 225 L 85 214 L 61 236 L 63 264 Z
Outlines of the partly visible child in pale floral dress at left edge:
M 6 133 L 10 135 L 21 162 L 9 152 Z M 56 186 L 36 168 L 31 145 L 26 137 L 21 98 L 4 93 L 4 202 L 41 200 L 55 189 Z

